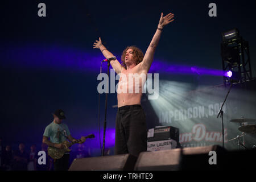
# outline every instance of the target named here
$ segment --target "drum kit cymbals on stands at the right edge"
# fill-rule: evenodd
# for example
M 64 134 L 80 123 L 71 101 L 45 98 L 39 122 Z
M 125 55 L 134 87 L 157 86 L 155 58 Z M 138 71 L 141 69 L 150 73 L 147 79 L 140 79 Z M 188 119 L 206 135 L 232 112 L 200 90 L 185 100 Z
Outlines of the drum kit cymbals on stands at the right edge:
M 228 142 L 237 139 L 238 147 L 242 146 L 242 147 L 246 148 L 245 147 L 245 135 L 246 134 L 256 134 L 256 125 L 248 125 L 248 123 L 249 122 L 256 122 L 256 119 L 246 119 L 246 118 L 231 119 L 230 122 L 240 123 L 240 127 L 238 127 L 238 130 L 241 131 L 242 134 L 237 135 L 236 138 L 228 140 Z M 242 142 L 241 142 L 241 138 L 242 138 Z M 253 146 L 253 148 L 254 147 L 255 147 L 255 145 Z

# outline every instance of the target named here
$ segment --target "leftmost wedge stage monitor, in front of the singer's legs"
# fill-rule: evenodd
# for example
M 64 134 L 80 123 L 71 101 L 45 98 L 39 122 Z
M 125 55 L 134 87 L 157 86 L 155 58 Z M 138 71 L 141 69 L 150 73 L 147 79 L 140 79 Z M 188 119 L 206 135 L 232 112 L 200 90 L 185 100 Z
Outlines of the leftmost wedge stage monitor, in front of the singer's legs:
M 69 171 L 131 171 L 136 161 L 130 154 L 74 159 Z

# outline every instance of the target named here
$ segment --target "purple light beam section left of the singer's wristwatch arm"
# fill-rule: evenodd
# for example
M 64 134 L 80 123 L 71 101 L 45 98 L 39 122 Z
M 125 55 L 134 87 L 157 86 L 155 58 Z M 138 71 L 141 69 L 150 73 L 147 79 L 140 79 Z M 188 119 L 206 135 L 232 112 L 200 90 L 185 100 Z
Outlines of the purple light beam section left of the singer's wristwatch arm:
M 105 57 L 96 50 L 41 44 L 8 44 L 0 53 L 0 66 L 18 69 L 100 72 Z M 106 67 L 106 64 L 104 65 Z

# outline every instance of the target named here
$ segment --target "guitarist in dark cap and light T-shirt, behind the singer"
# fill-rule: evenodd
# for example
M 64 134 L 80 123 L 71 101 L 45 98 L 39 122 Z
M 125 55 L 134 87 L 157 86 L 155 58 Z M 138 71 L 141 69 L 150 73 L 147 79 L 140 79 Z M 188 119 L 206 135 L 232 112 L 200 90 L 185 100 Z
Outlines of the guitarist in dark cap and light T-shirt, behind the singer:
M 68 126 L 64 123 L 61 123 L 65 119 L 64 111 L 57 109 L 53 114 L 53 122 L 51 122 L 43 134 L 43 143 L 46 143 L 47 146 L 64 148 L 62 142 L 69 140 L 70 142 L 76 142 L 77 139 L 73 138 L 69 132 Z M 48 139 L 49 138 L 49 139 Z M 85 137 L 81 137 L 81 142 L 84 143 Z M 55 171 L 67 171 L 69 164 L 69 152 L 66 152 L 62 158 L 56 159 L 54 161 L 54 170 Z

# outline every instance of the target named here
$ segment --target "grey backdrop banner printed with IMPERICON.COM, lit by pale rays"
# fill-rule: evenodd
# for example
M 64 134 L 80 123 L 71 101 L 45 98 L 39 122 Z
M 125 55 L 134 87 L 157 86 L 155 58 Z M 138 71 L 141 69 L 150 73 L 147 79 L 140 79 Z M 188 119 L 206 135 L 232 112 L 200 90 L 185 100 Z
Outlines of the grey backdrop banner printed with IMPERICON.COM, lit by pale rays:
M 155 125 L 174 126 L 179 128 L 180 144 L 182 147 L 198 147 L 218 144 L 222 146 L 222 122 L 217 118 L 218 111 L 228 93 L 229 86 L 210 86 L 196 89 L 183 94 L 174 94 L 163 91 L 159 84 L 158 100 L 150 101 L 152 107 L 146 107 L 146 113 L 155 113 L 156 117 L 147 114 L 147 121 Z M 250 118 L 256 119 L 256 93 L 255 81 L 246 85 L 236 84 L 232 86 L 229 96 L 224 104 L 224 144 L 228 150 L 242 149 L 238 146 L 238 130 L 240 123 L 230 122 L 231 119 Z M 169 94 L 169 95 L 168 95 Z M 162 100 L 164 98 L 164 101 Z M 163 105 L 163 106 L 161 106 Z M 168 109 L 168 107 L 170 109 Z M 154 111 L 153 111 L 153 110 Z M 157 118 L 158 123 L 152 121 Z M 256 122 L 242 123 L 243 125 L 255 125 Z M 245 146 L 254 147 L 256 134 L 245 133 Z M 243 138 L 240 138 L 240 142 Z

